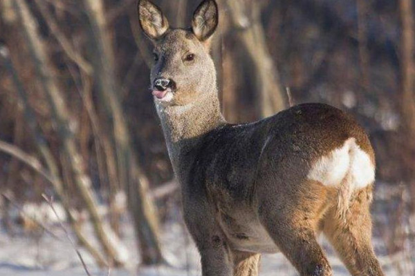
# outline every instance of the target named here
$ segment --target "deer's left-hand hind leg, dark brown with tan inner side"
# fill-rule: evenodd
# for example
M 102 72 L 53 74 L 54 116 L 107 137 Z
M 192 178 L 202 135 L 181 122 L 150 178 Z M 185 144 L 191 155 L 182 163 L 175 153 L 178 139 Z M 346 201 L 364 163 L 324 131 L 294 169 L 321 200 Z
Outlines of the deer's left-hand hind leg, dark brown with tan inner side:
M 259 219 L 300 275 L 331 276 L 331 266 L 317 243 L 318 222 L 326 211 L 326 188 L 317 181 L 297 187 L 295 198 L 274 198 L 274 193 L 268 193 L 259 199 Z

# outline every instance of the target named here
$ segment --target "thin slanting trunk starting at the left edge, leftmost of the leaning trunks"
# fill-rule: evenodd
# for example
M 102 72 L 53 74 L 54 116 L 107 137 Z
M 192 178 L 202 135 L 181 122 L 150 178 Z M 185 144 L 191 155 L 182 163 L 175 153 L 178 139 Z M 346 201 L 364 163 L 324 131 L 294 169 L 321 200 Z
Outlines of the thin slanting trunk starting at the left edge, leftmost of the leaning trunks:
M 10 72 L 10 75 L 12 76 L 12 82 L 15 84 L 17 96 L 23 108 L 24 119 L 26 120 L 26 124 L 28 124 L 29 126 L 29 130 L 32 136 L 35 137 L 35 145 L 37 146 L 37 150 L 40 152 L 40 154 L 46 161 L 46 165 L 48 166 L 48 173 L 45 173 L 43 170 L 40 170 L 41 173 L 43 171 L 42 175 L 44 175 L 44 177 L 46 177 L 46 179 L 50 181 L 50 184 L 52 184 L 53 188 L 55 188 L 55 192 L 59 197 L 60 201 L 62 202 L 62 206 L 64 206 L 66 215 L 68 216 L 69 223 L 71 224 L 71 228 L 73 229 L 79 244 L 86 248 L 86 250 L 89 252 L 89 254 L 91 254 L 91 256 L 95 259 L 95 262 L 97 262 L 99 266 L 107 266 L 104 257 L 102 257 L 101 253 L 92 246 L 88 239 L 86 239 L 86 237 L 82 233 L 80 225 L 77 223 L 75 217 L 73 217 L 73 214 L 71 213 L 71 206 L 69 206 L 68 200 L 64 195 L 62 179 L 59 175 L 59 170 L 57 168 L 55 158 L 50 152 L 47 142 L 42 135 L 42 132 L 40 132 L 39 128 L 37 127 L 35 112 L 28 103 L 26 91 L 24 90 L 24 87 L 19 77 L 17 76 L 15 68 L 12 66 L 12 62 L 10 61 L 8 55 L 8 50 L 6 48 L 0 48 L 0 57 L 3 59 L 7 70 Z M 30 159 L 25 156 L 21 157 L 24 160 Z M 39 164 L 39 161 L 35 161 L 33 164 Z

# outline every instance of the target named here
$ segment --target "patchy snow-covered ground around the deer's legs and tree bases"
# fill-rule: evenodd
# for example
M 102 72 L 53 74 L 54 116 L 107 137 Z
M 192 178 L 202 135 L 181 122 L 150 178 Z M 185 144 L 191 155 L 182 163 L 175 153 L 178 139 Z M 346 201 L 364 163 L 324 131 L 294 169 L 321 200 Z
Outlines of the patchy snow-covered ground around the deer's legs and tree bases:
M 384 196 L 385 189 L 382 187 L 376 191 L 376 198 L 380 206 L 387 204 Z M 385 201 L 385 202 L 384 202 Z M 380 214 L 376 214 L 377 210 L 381 210 L 374 206 L 375 219 L 382 219 Z M 180 214 L 178 210 L 170 210 L 169 219 L 163 225 L 162 244 L 165 250 L 165 256 L 172 266 L 160 267 L 140 267 L 140 258 L 136 253 L 136 242 L 133 238 L 133 230 L 131 223 L 124 221 L 124 237 L 123 242 L 129 246 L 130 262 L 129 270 L 111 270 L 111 276 L 193 276 L 201 275 L 199 265 L 199 254 L 187 235 L 183 224 L 180 222 Z M 82 265 L 75 254 L 71 244 L 68 242 L 62 229 L 58 226 L 50 226 L 59 239 L 52 237 L 48 233 L 43 235 L 15 235 L 9 237 L 6 233 L 0 233 L 0 276 L 84 276 Z M 410 253 L 401 253 L 391 257 L 387 255 L 385 244 L 378 235 L 376 229 L 374 231 L 374 246 L 376 253 L 380 259 L 380 263 L 385 270 L 386 275 L 408 275 L 414 273 L 414 260 L 407 261 L 411 258 Z M 341 264 L 340 260 L 335 256 L 332 248 L 320 239 L 324 246 L 329 262 L 334 270 L 334 275 L 349 275 L 347 270 Z M 108 271 L 99 270 L 93 265 L 93 260 L 82 249 L 80 249 L 86 264 L 93 275 L 107 276 Z M 414 257 L 412 257 L 414 258 Z M 396 263 L 399 263 L 403 270 L 398 270 Z M 260 275 L 297 275 L 291 264 L 288 263 L 282 254 L 263 255 L 261 259 Z

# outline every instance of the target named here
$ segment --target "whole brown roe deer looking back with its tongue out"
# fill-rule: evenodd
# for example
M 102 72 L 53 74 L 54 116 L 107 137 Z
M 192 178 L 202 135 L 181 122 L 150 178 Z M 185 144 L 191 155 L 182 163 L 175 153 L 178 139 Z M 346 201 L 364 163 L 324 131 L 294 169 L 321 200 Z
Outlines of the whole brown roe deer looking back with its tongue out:
M 152 94 L 203 276 L 257 275 L 259 255 L 276 252 L 301 275 L 332 275 L 321 232 L 352 275 L 383 275 L 371 246 L 375 157 L 365 130 L 320 103 L 228 124 L 209 54 L 216 2 L 203 1 L 188 29 L 170 28 L 149 0 L 138 14 L 154 43 Z

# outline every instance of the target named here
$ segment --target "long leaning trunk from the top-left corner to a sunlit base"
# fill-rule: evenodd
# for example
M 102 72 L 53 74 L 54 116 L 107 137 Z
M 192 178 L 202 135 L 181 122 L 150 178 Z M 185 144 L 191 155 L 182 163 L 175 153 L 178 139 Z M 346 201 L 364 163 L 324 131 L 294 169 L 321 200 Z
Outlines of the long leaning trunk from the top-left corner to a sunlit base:
M 16 0 L 13 3 L 17 17 L 21 22 L 26 45 L 35 64 L 37 77 L 47 96 L 51 115 L 57 126 L 57 135 L 62 141 L 62 150 L 69 160 L 68 163 L 71 166 L 71 172 L 73 173 L 77 190 L 91 215 L 95 234 L 102 244 L 105 253 L 113 260 L 114 266 L 120 266 L 125 261 L 120 253 L 120 244 L 118 244 L 116 235 L 113 234 L 111 228 L 104 226 L 98 214 L 98 203 L 91 188 L 91 180 L 84 172 L 82 157 L 78 152 L 73 132 L 69 128 L 71 118 L 68 110 L 66 110 L 64 97 L 62 97 L 53 77 L 53 71 L 50 67 L 44 44 L 39 38 L 33 16 L 30 14 L 30 10 L 25 1 Z

